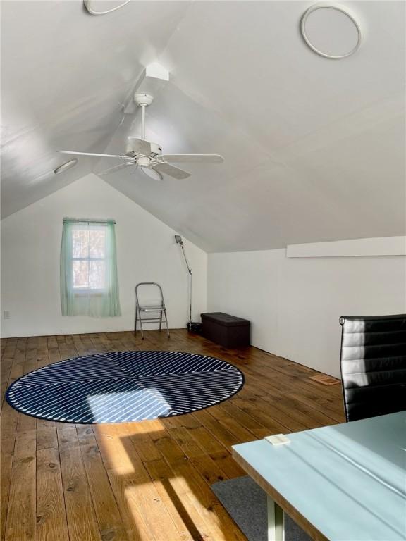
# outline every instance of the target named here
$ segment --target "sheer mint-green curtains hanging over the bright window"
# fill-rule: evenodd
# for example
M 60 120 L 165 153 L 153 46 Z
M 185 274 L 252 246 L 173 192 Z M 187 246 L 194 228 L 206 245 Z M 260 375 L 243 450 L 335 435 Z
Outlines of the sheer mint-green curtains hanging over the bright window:
M 90 242 L 91 232 L 102 232 L 97 247 Z M 87 232 L 87 233 L 86 233 Z M 76 235 L 76 236 L 75 236 Z M 82 235 L 85 242 L 78 242 Z M 87 242 L 86 242 L 87 238 Z M 92 251 L 99 251 L 99 259 L 92 259 Z M 79 253 L 78 253 L 79 252 Z M 79 261 L 80 260 L 80 261 Z M 75 267 L 76 265 L 76 267 Z M 80 265 L 87 283 L 79 283 L 75 269 Z M 99 269 L 98 286 L 92 284 L 92 266 Z M 101 277 L 101 278 L 100 278 Z M 92 317 L 121 316 L 118 292 L 116 232 L 113 221 L 93 222 L 63 220 L 61 243 L 61 308 L 63 316 Z

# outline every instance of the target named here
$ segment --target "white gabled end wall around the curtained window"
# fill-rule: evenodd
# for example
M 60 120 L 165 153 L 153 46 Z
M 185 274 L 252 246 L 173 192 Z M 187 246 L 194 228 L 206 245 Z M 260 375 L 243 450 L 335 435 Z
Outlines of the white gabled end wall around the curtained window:
M 148 182 L 148 180 L 146 181 Z M 122 316 L 61 316 L 59 254 L 63 216 L 114 218 Z M 171 328 L 184 327 L 187 271 L 176 232 L 90 174 L 1 221 L 1 330 L 4 337 L 130 330 L 134 286 L 159 282 Z M 206 309 L 207 254 L 185 241 L 193 270 L 194 316 Z M 11 318 L 3 318 L 9 311 Z M 150 327 L 151 328 L 151 327 Z

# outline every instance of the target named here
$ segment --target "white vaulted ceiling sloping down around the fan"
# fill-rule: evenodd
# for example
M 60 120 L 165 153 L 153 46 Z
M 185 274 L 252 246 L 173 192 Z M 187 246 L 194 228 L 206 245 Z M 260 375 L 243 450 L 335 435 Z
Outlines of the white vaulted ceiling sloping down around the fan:
M 142 66 L 171 82 L 147 110 L 164 152 L 216 152 L 188 180 L 104 176 L 207 251 L 405 234 L 405 3 L 348 2 L 364 42 L 332 61 L 299 32 L 307 1 L 2 2 L 3 216 L 90 170 L 56 149 L 122 152 Z M 342 3 L 341 3 L 342 4 Z M 97 194 L 95 194 L 97 197 Z

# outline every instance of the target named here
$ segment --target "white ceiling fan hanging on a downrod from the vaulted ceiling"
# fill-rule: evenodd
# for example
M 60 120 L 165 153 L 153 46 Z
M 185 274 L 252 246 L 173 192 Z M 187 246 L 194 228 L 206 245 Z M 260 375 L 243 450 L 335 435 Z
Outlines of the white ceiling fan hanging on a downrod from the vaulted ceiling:
M 134 101 L 142 111 L 141 139 L 127 137 L 124 154 L 95 154 L 94 152 L 77 152 L 59 150 L 61 154 L 74 154 L 78 156 L 100 156 L 103 158 L 119 158 L 124 161 L 118 166 L 101 171 L 99 175 L 106 175 L 124 168 L 139 168 L 142 173 L 154 180 L 162 180 L 162 174 L 179 180 L 190 177 L 190 173 L 172 166 L 171 163 L 223 163 L 224 158 L 219 154 L 162 154 L 159 144 L 145 139 L 145 109 L 152 104 L 153 97 L 150 94 L 135 94 Z

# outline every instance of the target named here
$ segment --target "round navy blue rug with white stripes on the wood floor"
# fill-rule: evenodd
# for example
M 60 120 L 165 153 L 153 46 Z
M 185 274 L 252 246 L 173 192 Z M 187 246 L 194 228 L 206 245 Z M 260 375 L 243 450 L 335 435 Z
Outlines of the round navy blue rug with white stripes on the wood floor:
M 125 423 L 219 404 L 244 385 L 235 366 L 182 352 L 112 352 L 50 364 L 8 387 L 13 408 L 65 423 Z

